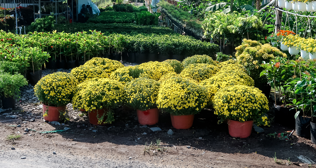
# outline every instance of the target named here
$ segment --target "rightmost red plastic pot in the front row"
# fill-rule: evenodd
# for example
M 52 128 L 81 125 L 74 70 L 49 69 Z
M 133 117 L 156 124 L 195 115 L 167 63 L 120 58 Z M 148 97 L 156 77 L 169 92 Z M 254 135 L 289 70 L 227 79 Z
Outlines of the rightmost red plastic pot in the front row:
M 235 138 L 247 138 L 251 134 L 253 121 L 228 120 L 229 135 Z

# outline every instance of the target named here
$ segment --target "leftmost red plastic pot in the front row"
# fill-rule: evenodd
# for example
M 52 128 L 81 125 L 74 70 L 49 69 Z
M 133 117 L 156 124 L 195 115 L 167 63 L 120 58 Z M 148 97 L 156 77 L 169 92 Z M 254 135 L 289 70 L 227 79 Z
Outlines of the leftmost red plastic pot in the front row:
M 48 110 L 48 116 L 44 117 L 46 121 L 59 121 L 61 113 L 64 113 L 66 110 L 66 106 L 54 107 L 43 104 L 43 115 L 45 114 L 46 110 Z

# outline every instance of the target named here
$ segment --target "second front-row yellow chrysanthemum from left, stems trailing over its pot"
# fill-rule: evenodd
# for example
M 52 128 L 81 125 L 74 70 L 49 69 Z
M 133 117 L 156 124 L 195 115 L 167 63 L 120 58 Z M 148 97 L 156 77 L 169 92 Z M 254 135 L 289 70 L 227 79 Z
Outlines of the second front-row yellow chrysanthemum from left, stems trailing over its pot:
M 96 113 L 97 124 L 114 121 L 113 108 L 123 102 L 123 84 L 109 78 L 93 78 L 83 82 L 78 88 L 72 99 L 74 109 L 85 109 L 89 112 L 90 123 L 91 113 Z M 95 114 L 91 114 L 93 115 Z

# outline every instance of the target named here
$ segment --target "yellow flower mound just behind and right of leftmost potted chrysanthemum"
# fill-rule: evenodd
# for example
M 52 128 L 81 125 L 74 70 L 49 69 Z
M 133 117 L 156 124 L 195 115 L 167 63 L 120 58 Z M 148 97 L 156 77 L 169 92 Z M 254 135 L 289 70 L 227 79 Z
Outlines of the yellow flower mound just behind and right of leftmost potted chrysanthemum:
M 72 69 L 70 73 L 78 79 L 79 83 L 92 78 L 109 78 L 101 67 L 88 67 L 86 64 Z

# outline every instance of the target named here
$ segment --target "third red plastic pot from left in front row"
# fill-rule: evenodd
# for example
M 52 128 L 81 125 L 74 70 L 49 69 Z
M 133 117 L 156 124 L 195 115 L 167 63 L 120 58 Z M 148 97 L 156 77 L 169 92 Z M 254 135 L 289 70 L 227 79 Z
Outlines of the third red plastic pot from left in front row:
M 139 109 L 137 111 L 138 122 L 142 125 L 154 125 L 157 124 L 159 120 L 159 109 L 148 109 L 145 111 L 141 111 Z

